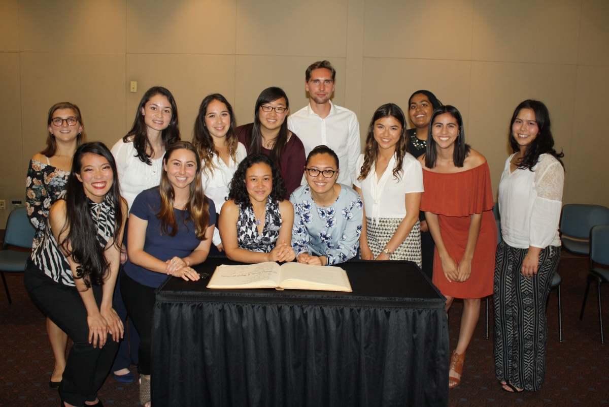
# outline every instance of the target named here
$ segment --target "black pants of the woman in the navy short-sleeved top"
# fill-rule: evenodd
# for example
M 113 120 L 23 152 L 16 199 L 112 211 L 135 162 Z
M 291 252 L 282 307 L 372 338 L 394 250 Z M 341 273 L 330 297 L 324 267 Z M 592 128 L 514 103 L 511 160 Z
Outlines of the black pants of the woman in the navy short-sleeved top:
M 152 353 L 152 314 L 155 304 L 155 288 L 142 285 L 121 270 L 121 293 L 129 317 L 139 333 L 138 372 L 150 374 Z

